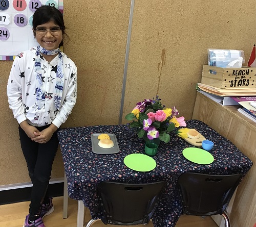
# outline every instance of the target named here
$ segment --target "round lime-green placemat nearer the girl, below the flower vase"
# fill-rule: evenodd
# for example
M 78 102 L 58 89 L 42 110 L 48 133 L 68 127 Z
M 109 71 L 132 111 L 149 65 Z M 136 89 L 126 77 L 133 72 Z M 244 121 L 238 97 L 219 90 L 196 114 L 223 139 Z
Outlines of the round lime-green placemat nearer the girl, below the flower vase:
M 127 155 L 123 159 L 123 162 L 130 169 L 140 172 L 151 171 L 156 168 L 157 165 L 156 161 L 153 158 L 143 154 Z

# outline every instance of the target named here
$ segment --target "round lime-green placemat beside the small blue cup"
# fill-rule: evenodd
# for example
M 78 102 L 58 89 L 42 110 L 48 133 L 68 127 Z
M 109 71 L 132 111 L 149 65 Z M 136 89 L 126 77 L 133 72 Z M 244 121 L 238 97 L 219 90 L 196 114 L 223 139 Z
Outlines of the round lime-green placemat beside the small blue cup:
M 207 165 L 214 161 L 214 156 L 209 152 L 196 147 L 185 148 L 182 154 L 186 159 L 197 164 Z

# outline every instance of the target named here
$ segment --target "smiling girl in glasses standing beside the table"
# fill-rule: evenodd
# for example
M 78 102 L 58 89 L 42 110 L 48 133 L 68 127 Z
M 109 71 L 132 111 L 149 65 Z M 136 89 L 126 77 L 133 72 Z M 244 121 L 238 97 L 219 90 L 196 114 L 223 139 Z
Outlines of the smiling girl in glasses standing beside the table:
M 7 95 L 33 184 L 24 227 L 45 227 L 42 218 L 54 210 L 47 189 L 58 147 L 57 130 L 76 103 L 77 68 L 58 48 L 66 33 L 56 8 L 41 6 L 35 11 L 33 34 L 39 45 L 16 56 Z

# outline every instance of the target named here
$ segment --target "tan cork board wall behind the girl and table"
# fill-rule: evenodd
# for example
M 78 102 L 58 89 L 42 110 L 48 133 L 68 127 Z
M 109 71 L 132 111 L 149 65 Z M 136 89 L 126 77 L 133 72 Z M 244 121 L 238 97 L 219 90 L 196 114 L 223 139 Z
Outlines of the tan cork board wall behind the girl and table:
M 77 104 L 63 127 L 122 123 L 156 94 L 190 119 L 207 48 L 242 49 L 246 62 L 256 37 L 254 0 L 135 0 L 125 89 L 122 90 L 130 0 L 65 0 L 69 41 L 64 52 L 78 68 Z M 0 61 L 0 185 L 29 182 L 6 84 L 11 61 Z M 58 150 L 52 178 L 63 177 Z

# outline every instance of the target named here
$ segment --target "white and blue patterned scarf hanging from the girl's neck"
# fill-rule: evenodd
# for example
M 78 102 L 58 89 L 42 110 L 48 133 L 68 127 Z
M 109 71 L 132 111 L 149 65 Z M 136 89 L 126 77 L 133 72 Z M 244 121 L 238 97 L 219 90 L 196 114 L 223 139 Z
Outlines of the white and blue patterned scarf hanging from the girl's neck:
M 45 83 L 44 78 L 42 78 L 42 69 L 41 69 L 41 58 L 42 55 L 55 55 L 58 53 L 58 64 L 56 70 L 56 84 L 55 84 L 55 93 L 54 93 L 54 104 L 57 110 L 60 108 L 62 90 L 64 84 L 64 73 L 63 73 L 63 56 L 59 48 L 53 49 L 52 51 L 48 51 L 44 47 L 40 45 L 37 46 L 35 52 L 35 78 L 36 78 L 36 87 L 35 87 L 35 95 L 37 100 L 37 109 L 40 110 L 45 108 L 46 102 L 46 92 L 50 93 L 50 91 L 45 91 L 43 84 Z M 53 71 L 54 73 L 54 71 Z

